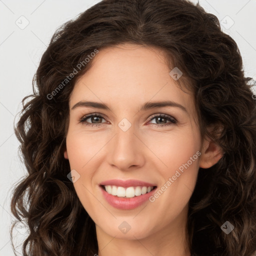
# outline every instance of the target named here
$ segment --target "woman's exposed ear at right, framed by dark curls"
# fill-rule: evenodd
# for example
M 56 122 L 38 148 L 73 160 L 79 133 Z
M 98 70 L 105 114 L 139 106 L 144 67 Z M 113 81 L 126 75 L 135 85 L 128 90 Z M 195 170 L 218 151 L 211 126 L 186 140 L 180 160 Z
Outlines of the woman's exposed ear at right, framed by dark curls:
M 199 167 L 209 168 L 223 156 L 222 148 L 208 137 L 203 140 Z

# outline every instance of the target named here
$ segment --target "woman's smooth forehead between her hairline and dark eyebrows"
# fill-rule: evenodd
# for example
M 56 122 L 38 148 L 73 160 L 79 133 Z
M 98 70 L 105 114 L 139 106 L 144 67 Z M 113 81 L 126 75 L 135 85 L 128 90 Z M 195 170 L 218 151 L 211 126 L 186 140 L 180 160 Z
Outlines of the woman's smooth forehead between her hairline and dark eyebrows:
M 150 100 L 172 100 L 193 109 L 191 93 L 170 76 L 161 49 L 125 43 L 100 49 L 91 61 L 91 68 L 75 83 L 70 105 L 97 100 L 137 107 Z

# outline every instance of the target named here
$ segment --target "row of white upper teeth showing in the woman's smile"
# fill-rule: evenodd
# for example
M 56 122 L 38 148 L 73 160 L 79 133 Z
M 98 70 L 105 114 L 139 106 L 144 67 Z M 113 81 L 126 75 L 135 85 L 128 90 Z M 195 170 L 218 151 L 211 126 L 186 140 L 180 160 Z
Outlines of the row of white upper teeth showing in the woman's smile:
M 153 186 L 129 186 L 127 188 L 122 186 L 104 185 L 107 193 L 122 197 L 134 197 L 135 195 L 145 194 L 153 189 Z

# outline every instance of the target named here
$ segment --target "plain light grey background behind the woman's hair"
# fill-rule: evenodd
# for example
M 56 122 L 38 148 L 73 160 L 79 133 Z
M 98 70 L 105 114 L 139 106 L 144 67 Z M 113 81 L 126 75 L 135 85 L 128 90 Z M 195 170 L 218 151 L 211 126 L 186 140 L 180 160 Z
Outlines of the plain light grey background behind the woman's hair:
M 14 182 L 26 173 L 17 154 L 14 116 L 21 109 L 22 98 L 32 92 L 33 74 L 55 29 L 96 2 L 99 0 L 0 0 L 0 256 L 14 255 L 9 236 L 13 219 L 10 196 Z M 199 3 L 222 20 L 222 30 L 238 44 L 246 76 L 256 80 L 256 1 L 199 0 Z M 26 22 L 29 24 L 23 28 Z M 24 239 L 24 232 L 22 228 L 14 232 L 17 241 Z

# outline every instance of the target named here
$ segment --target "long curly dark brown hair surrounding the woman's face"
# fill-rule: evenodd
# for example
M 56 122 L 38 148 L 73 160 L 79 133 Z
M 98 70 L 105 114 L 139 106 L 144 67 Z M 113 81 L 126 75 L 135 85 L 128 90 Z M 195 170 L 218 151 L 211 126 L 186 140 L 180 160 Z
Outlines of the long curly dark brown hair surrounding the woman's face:
M 221 31 L 217 17 L 186 0 L 102 0 L 53 34 L 15 127 L 28 172 L 11 200 L 16 223 L 24 220 L 29 228 L 23 255 L 97 253 L 95 224 L 67 178 L 70 166 L 63 156 L 69 95 L 92 61 L 64 85 L 63 80 L 94 49 L 124 42 L 158 47 L 180 67 L 193 92 L 201 136 L 224 151 L 215 165 L 199 168 L 189 200 L 191 254 L 251 256 L 256 251 L 252 78 L 244 76 L 237 44 Z M 209 126 L 215 127 L 211 133 Z M 225 221 L 234 225 L 228 235 L 220 228 Z

